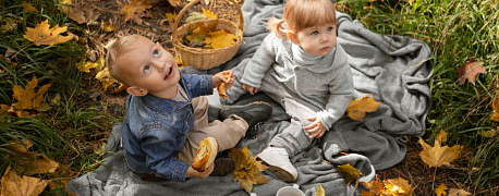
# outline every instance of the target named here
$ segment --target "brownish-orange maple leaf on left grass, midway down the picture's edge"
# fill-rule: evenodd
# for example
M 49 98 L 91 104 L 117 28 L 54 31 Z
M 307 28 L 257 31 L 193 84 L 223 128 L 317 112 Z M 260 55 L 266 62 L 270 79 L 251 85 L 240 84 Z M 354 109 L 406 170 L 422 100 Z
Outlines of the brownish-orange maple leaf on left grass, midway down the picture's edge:
M 33 79 L 27 83 L 26 88 L 14 85 L 12 88 L 14 95 L 12 97 L 19 101 L 17 103 L 14 103 L 15 109 L 38 109 L 41 106 L 41 101 L 44 101 L 44 94 L 50 87 L 50 84 L 41 86 L 38 91 L 35 93 L 35 87 L 37 85 L 38 79 L 36 79 L 36 76 L 34 76 Z

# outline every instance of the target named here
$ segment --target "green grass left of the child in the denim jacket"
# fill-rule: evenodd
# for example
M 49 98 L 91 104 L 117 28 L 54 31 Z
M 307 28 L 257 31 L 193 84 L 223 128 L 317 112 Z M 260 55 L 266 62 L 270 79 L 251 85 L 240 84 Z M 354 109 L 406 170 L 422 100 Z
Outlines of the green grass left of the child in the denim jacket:
M 75 25 L 69 20 L 57 1 L 29 2 L 39 12 L 24 12 L 21 0 L 0 2 L 2 24 L 5 17 L 19 21 L 17 26 L 2 32 L 0 36 L 1 56 L 8 50 L 14 52 L 7 58 L 0 58 L 0 103 L 11 106 L 16 102 L 13 99 L 13 86 L 24 87 L 36 77 L 38 85 L 35 90 L 45 84 L 51 84 L 44 96 L 44 102 L 49 103 L 51 109 L 42 112 L 28 110 L 37 115 L 25 118 L 0 113 L 0 173 L 3 174 L 9 166 L 20 167 L 19 160 L 24 158 L 24 155 L 7 148 L 7 144 L 26 139 L 33 143 L 31 151 L 45 155 L 60 164 L 54 173 L 41 172 L 34 176 L 46 180 L 71 179 L 99 166 L 102 154 L 96 152 L 93 145 L 105 144 L 112 124 L 118 120 L 105 112 L 105 106 L 87 99 L 95 82 L 85 79 L 83 72 L 75 68 L 76 62 L 85 58 L 85 46 L 77 39 L 53 46 L 36 46 L 23 37 L 26 27 L 34 28 L 45 20 L 48 20 L 51 27 L 68 26 L 68 33 L 82 39 L 88 36 L 82 29 L 84 26 Z M 73 173 L 63 174 L 66 169 Z M 29 172 L 28 170 L 24 173 Z M 62 188 L 47 187 L 44 194 L 64 195 L 64 192 Z

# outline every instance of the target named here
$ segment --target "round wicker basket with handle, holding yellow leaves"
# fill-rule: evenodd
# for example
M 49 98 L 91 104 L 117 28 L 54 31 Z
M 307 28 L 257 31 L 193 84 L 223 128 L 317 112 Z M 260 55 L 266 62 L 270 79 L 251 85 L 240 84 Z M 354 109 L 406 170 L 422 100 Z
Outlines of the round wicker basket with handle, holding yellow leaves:
M 175 48 L 177 54 L 180 57 L 182 64 L 193 65 L 197 70 L 208 70 L 231 60 L 232 57 L 234 57 L 235 52 L 238 52 L 238 49 L 241 46 L 241 42 L 243 41 L 243 13 L 241 12 L 241 8 L 239 7 L 239 4 L 235 3 L 233 0 L 227 1 L 231 2 L 238 9 L 238 12 L 240 14 L 240 25 L 236 25 L 235 23 L 223 19 L 210 19 L 190 22 L 178 28 L 179 22 L 182 19 L 182 15 L 185 13 L 185 11 L 194 3 L 199 2 L 199 0 L 191 1 L 180 11 L 173 25 L 171 40 Z M 228 29 L 231 34 L 238 37 L 235 44 L 219 49 L 202 49 L 191 48 L 188 46 L 183 45 L 180 41 L 190 32 L 191 26 L 196 25 L 197 23 L 204 23 L 205 25 L 209 25 L 215 22 L 217 23 L 217 29 Z

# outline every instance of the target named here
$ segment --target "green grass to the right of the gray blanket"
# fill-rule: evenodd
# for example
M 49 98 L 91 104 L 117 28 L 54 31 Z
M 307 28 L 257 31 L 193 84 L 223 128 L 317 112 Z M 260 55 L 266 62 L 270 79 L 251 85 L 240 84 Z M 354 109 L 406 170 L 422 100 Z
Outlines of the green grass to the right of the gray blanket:
M 452 163 L 465 168 L 465 175 L 455 175 L 454 181 L 475 195 L 496 195 L 499 134 L 487 138 L 478 133 L 497 131 L 499 125 L 490 120 L 491 102 L 499 88 L 499 2 L 414 0 L 411 4 L 407 0 L 364 0 L 338 4 L 340 9 L 349 8 L 344 11 L 375 33 L 414 37 L 429 45 L 435 56 L 429 82 L 434 106 L 424 138 L 431 142 L 440 130 L 449 133 L 447 145 L 464 146 L 461 158 Z M 459 85 L 458 69 L 471 59 L 484 62 L 487 73 L 477 75 L 475 85 Z

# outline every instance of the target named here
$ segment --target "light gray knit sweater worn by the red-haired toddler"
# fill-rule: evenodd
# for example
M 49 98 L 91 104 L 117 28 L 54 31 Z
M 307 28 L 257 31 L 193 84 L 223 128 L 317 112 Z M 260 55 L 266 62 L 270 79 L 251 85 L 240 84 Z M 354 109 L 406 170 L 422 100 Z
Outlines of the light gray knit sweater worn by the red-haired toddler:
M 353 79 L 346 60 L 338 42 L 328 54 L 319 57 L 269 34 L 246 65 L 241 82 L 259 88 L 269 71 L 283 87 L 317 106 L 317 117 L 329 130 L 352 99 Z

